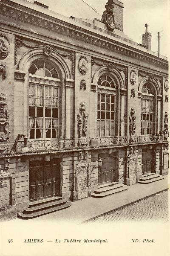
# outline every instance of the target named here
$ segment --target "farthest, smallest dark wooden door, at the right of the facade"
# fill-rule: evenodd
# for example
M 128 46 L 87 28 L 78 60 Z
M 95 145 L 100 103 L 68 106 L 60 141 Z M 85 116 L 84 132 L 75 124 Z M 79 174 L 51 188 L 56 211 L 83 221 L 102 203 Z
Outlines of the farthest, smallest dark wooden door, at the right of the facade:
M 142 174 L 154 172 L 154 152 L 153 149 L 142 149 Z

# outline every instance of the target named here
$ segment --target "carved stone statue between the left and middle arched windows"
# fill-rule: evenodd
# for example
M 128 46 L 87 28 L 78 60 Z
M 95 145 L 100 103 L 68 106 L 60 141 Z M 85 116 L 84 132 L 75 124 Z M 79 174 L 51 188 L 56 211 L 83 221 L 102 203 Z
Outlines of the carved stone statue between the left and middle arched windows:
M 87 146 L 87 122 L 88 122 L 88 114 L 85 112 L 85 102 L 80 103 L 81 107 L 79 108 L 79 113 L 77 114 L 77 128 L 78 128 L 78 137 L 79 141 L 77 146 Z

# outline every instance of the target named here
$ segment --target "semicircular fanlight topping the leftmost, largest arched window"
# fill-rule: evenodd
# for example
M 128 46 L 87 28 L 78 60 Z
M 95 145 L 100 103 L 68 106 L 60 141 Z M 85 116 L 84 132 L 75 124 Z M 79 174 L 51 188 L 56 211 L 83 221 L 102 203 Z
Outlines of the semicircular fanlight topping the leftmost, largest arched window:
M 35 61 L 31 65 L 31 67 L 29 69 L 29 73 L 37 75 L 37 76 L 58 78 L 58 73 L 57 73 L 56 69 L 54 68 L 54 66 L 48 62 L 40 61 L 40 60 Z

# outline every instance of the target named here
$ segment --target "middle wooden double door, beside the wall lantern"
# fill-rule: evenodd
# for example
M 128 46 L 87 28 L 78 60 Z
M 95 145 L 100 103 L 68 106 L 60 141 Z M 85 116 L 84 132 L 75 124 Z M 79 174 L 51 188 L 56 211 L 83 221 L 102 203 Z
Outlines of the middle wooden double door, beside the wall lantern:
M 102 166 L 98 166 L 98 184 L 116 181 L 116 152 L 99 154 L 99 158 L 102 159 Z

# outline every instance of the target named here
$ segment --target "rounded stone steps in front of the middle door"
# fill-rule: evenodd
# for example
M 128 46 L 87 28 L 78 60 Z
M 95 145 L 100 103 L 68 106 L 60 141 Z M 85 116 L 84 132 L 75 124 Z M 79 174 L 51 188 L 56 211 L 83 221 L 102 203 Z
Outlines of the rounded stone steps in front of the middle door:
M 94 193 L 91 194 L 94 198 L 102 198 L 107 195 L 112 195 L 127 189 L 126 185 L 118 182 L 107 183 L 99 186 L 98 189 L 94 190 Z

